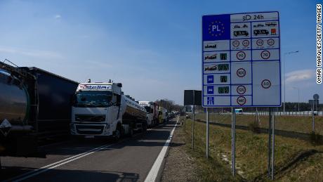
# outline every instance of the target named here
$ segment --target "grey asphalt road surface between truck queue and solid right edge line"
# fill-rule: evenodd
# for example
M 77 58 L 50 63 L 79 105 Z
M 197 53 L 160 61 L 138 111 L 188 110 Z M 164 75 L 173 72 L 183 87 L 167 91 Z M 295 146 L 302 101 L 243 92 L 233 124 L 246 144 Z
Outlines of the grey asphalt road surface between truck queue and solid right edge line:
M 118 143 L 66 141 L 40 148 L 46 158 L 1 157 L 0 179 L 13 181 L 144 181 L 175 125 L 148 130 Z

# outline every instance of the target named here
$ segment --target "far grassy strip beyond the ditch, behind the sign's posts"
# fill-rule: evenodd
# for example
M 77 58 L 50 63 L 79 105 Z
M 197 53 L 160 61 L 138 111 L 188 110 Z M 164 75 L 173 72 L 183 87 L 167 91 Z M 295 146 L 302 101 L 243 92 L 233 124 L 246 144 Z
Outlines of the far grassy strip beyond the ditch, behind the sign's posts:
M 254 115 L 236 115 L 236 124 L 249 126 L 250 123 L 256 121 Z M 205 113 L 195 115 L 196 119 L 206 119 Z M 268 116 L 259 116 L 261 128 L 268 128 Z M 223 124 L 231 124 L 231 115 L 219 115 L 217 113 L 210 114 L 210 122 L 218 122 Z M 310 134 L 312 132 L 312 117 L 307 116 L 275 116 L 275 129 L 285 131 L 296 131 Z M 323 117 L 315 117 L 315 133 L 323 135 Z

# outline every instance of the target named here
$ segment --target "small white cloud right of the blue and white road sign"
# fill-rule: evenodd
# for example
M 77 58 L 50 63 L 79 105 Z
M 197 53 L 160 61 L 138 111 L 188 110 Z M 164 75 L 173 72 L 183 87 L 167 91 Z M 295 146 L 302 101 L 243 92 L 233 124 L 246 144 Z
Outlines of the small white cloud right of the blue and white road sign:
M 314 77 L 314 70 L 297 70 L 286 74 L 286 84 L 293 82 L 300 82 Z

